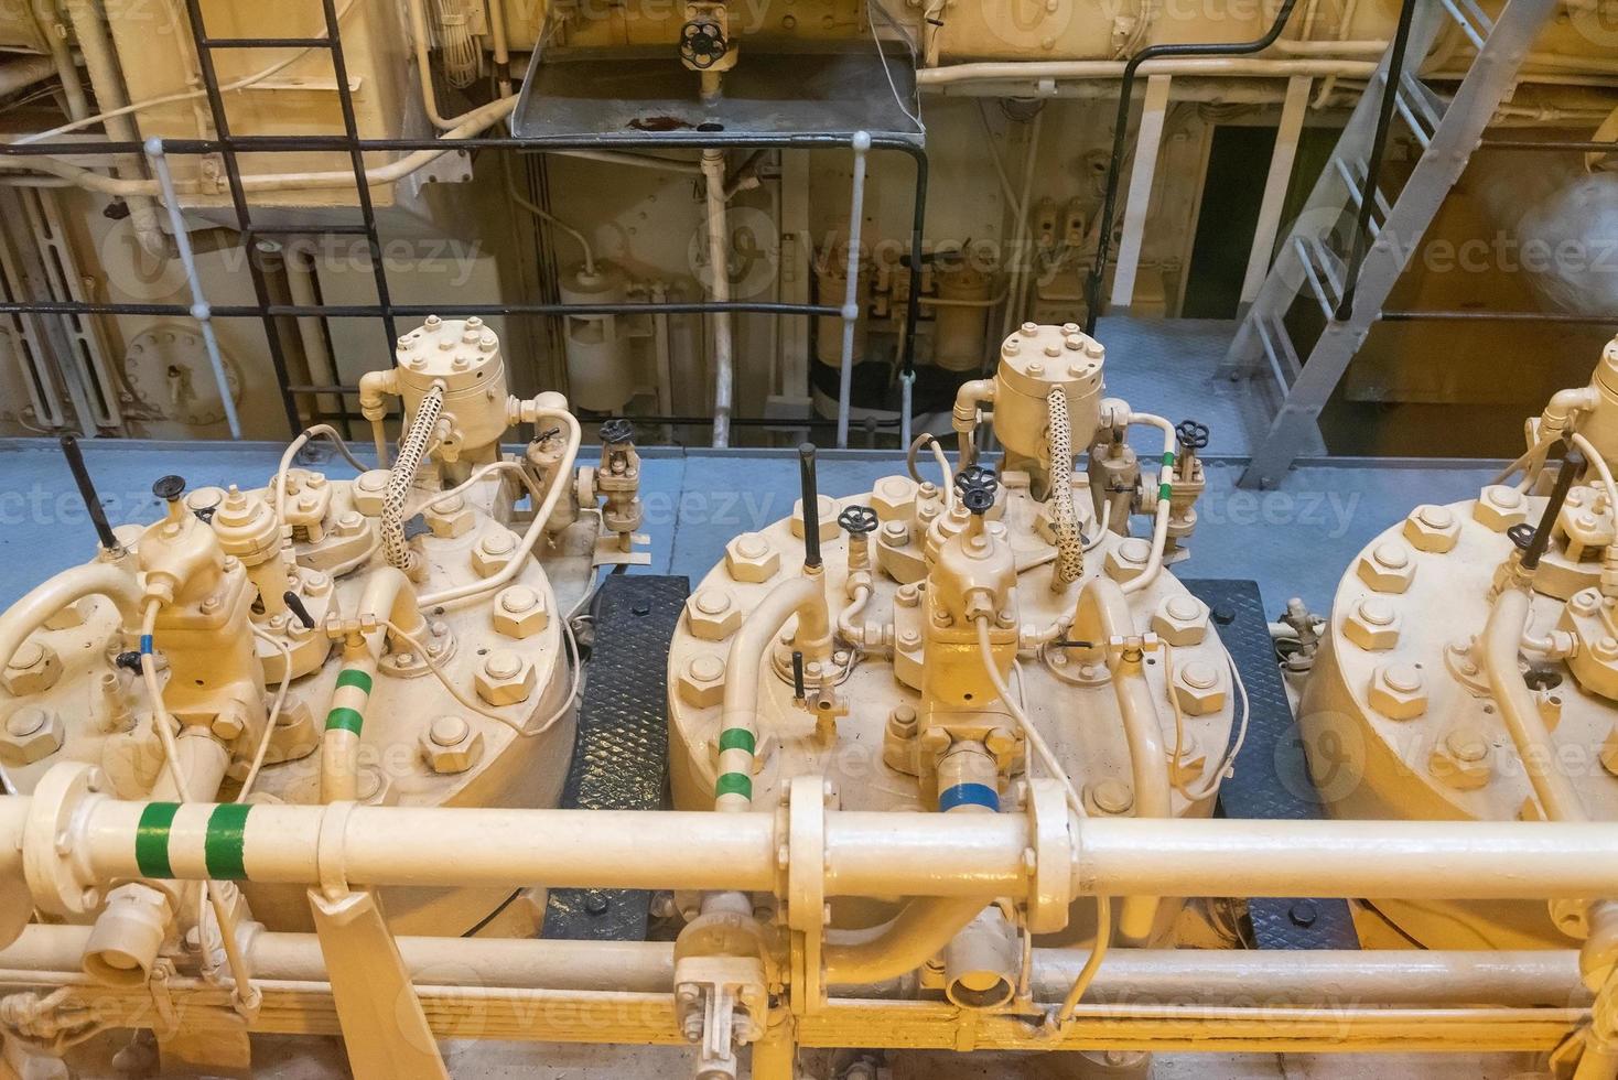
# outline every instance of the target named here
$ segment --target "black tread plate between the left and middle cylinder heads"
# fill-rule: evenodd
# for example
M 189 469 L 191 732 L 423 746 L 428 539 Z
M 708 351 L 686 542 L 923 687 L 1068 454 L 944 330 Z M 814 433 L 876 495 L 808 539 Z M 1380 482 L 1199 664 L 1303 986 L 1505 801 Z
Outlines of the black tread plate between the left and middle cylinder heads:
M 668 805 L 668 640 L 689 592 L 684 577 L 612 574 L 602 584 L 563 808 Z M 644 941 L 649 904 L 641 891 L 552 889 L 540 936 Z

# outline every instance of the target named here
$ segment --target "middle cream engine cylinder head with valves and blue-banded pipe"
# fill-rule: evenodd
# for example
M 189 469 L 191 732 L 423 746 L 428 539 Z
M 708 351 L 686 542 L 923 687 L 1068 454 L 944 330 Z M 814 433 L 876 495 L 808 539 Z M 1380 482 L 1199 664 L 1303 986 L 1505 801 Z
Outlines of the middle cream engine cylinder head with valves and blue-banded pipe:
M 1084 813 L 1212 812 L 1239 749 L 1239 677 L 1207 605 L 1163 569 L 1186 555 L 1207 432 L 1107 398 L 1103 359 L 1071 323 L 1011 335 L 995 377 L 961 390 L 959 467 L 924 435 L 908 475 L 833 498 L 806 451 L 793 516 L 730 542 L 670 647 L 676 805 L 773 805 L 796 778 L 822 776 L 849 810 L 995 812 L 1024 805 L 1024 779 L 1045 774 L 1071 783 Z M 1000 470 L 979 464 L 990 409 Z M 1160 443 L 1157 470 L 1131 428 Z M 932 479 L 916 461 L 927 443 Z M 1074 470 L 1082 448 L 1089 469 Z M 1134 514 L 1152 522 L 1146 537 L 1131 537 Z M 835 905 L 830 925 L 867 930 L 890 907 Z M 1071 923 L 1044 912 L 1018 926 L 971 905 L 942 917 L 940 947 L 981 920 L 985 952 L 963 946 L 972 959 L 959 964 L 998 956 L 990 970 L 947 959 L 950 998 L 1008 1002 L 1016 934 L 1094 936 L 1082 907 Z M 1165 941 L 1175 910 L 1128 901 L 1120 938 Z

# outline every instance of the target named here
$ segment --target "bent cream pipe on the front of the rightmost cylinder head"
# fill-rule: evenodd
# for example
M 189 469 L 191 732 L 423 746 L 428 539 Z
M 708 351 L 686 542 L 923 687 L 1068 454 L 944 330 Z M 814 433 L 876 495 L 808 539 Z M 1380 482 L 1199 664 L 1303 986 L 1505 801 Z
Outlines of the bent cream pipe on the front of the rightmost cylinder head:
M 1526 589 L 1506 589 L 1495 600 L 1484 627 L 1484 671 L 1545 816 L 1552 821 L 1587 821 L 1579 794 L 1560 771 L 1557 747 L 1545 729 L 1539 703 L 1518 669 L 1518 648 L 1531 608 L 1532 597 Z

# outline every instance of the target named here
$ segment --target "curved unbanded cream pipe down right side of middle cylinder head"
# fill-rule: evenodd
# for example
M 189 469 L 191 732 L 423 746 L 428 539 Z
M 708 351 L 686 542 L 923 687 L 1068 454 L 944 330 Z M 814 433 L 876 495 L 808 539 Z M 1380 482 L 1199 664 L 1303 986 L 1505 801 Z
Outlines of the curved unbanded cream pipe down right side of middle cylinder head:
M 1134 616 L 1129 598 L 1110 577 L 1095 577 L 1079 592 L 1073 611 L 1073 634 L 1079 640 L 1107 642 L 1133 637 Z M 1173 818 L 1175 802 L 1168 781 L 1168 749 L 1163 745 L 1163 728 L 1152 700 L 1152 687 L 1146 681 L 1141 656 L 1110 661 L 1113 694 L 1123 715 L 1123 731 L 1129 744 L 1129 770 L 1134 779 L 1134 813 L 1137 818 Z M 1118 936 L 1126 946 L 1142 946 L 1152 936 L 1157 922 L 1157 896 L 1128 896 L 1118 913 Z

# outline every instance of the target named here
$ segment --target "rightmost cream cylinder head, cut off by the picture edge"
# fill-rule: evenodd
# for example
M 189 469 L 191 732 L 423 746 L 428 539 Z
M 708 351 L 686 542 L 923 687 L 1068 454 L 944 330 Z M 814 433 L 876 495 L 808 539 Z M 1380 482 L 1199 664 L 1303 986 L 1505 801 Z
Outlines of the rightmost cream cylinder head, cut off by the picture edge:
M 1299 724 L 1333 815 L 1618 816 L 1618 341 L 1526 424 L 1474 500 L 1421 504 L 1343 576 L 1332 618 L 1293 611 Z M 1615 947 L 1612 905 L 1370 899 L 1427 947 Z

